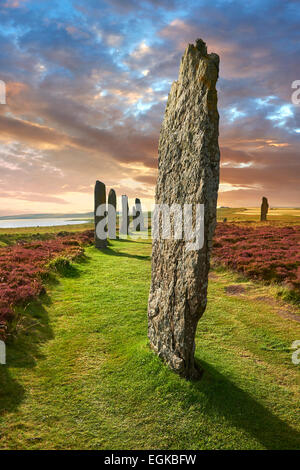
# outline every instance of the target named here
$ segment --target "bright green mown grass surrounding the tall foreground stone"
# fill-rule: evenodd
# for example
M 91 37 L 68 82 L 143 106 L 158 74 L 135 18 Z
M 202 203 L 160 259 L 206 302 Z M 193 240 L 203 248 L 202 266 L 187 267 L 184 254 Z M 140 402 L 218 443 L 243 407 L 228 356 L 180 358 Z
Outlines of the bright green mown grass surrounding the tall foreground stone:
M 148 348 L 150 243 L 86 252 L 76 276 L 28 306 L 8 345 L 1 449 L 300 447 L 299 323 L 256 300 L 249 281 L 226 294 L 238 276 L 214 272 L 197 333 L 205 374 L 188 382 Z

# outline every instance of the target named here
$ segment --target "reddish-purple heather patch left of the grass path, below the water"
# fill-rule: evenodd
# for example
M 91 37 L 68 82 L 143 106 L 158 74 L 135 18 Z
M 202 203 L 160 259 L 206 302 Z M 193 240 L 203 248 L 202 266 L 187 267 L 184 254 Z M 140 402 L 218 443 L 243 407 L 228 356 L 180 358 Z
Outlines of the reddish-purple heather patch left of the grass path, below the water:
M 13 246 L 0 247 L 0 337 L 6 336 L 15 307 L 24 306 L 45 292 L 47 272 L 51 269 L 59 272 L 64 263 L 69 269 L 70 260 L 82 256 L 83 245 L 89 244 L 92 238 L 91 230 L 74 234 L 60 232 L 52 239 L 19 241 Z M 60 260 L 56 265 L 55 259 Z

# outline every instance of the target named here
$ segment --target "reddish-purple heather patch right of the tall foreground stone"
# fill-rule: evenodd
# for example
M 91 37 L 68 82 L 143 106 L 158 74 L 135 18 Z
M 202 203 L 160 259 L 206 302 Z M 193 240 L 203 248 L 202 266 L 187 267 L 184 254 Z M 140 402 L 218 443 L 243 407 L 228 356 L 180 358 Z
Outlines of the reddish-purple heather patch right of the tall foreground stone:
M 300 291 L 299 226 L 219 223 L 213 260 L 244 275 Z

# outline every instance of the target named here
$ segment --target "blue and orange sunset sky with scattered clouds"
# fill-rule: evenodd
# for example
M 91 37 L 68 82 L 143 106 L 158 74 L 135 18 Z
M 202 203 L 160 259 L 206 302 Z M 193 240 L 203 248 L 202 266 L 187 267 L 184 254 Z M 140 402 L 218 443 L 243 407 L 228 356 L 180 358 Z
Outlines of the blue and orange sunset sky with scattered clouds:
M 188 43 L 220 55 L 218 205 L 300 206 L 300 4 L 0 0 L 0 216 L 93 210 L 96 179 L 153 202 Z

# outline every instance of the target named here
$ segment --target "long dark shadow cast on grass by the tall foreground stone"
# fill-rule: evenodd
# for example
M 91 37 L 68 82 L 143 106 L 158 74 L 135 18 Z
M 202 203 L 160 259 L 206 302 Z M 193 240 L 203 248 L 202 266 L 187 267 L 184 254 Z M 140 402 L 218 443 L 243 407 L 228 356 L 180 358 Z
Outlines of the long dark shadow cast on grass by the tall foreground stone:
M 207 398 L 205 412 L 225 418 L 237 428 L 251 434 L 266 449 L 299 449 L 300 433 L 289 424 L 275 416 L 271 411 L 256 401 L 222 375 L 210 364 L 199 361 L 204 369 L 201 381 L 191 382 L 190 405 Z

